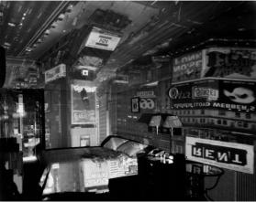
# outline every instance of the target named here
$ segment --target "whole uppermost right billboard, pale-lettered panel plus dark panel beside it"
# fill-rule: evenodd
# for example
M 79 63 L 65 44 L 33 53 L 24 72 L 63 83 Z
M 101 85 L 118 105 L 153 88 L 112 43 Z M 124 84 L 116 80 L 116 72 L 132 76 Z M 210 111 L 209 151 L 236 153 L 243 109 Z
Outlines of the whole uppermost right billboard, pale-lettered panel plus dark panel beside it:
M 206 77 L 256 79 L 256 48 L 204 48 L 173 59 L 173 82 Z

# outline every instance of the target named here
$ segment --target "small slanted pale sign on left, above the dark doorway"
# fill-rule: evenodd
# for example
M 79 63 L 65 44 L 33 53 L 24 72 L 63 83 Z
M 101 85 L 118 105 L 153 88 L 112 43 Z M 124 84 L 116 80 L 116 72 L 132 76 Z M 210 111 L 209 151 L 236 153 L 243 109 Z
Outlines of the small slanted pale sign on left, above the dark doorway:
M 66 77 L 66 65 L 61 64 L 45 71 L 45 83 Z

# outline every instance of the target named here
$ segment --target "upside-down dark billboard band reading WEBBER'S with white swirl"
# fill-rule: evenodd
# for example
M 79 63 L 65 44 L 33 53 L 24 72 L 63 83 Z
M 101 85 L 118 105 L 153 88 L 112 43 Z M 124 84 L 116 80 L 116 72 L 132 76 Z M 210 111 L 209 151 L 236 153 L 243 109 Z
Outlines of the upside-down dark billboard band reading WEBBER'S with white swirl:
M 222 109 L 255 112 L 256 81 L 202 79 L 173 84 L 172 109 Z

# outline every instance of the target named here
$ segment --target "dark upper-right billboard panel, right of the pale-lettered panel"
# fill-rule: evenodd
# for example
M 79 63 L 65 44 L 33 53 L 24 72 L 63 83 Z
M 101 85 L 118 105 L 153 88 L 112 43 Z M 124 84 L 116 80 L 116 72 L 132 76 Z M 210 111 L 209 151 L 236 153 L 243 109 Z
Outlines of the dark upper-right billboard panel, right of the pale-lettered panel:
M 201 77 L 256 79 L 256 49 L 206 48 Z

